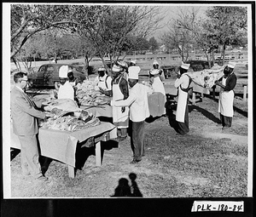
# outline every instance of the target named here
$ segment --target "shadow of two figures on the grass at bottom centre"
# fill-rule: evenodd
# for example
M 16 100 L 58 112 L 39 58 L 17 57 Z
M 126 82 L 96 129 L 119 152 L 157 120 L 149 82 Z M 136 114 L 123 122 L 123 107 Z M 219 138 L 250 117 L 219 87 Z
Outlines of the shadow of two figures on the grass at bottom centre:
M 137 174 L 129 174 L 131 180 L 131 186 L 129 180 L 125 178 L 119 179 L 119 185 L 114 189 L 114 194 L 111 197 L 143 197 L 142 192 L 137 186 Z

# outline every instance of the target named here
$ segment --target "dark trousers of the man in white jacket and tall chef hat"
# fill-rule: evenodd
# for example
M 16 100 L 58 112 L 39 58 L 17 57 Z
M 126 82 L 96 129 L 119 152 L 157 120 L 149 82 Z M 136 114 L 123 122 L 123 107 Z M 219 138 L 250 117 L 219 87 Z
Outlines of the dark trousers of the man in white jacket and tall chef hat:
M 131 150 L 134 159 L 142 160 L 144 154 L 144 138 L 145 138 L 145 121 L 131 122 Z

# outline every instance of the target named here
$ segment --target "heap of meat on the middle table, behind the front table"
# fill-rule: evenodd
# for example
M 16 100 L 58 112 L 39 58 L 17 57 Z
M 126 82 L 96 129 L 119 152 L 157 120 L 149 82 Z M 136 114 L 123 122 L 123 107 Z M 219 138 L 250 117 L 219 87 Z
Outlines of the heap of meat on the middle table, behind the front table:
M 96 90 L 94 83 L 89 80 L 77 85 L 76 97 L 81 106 L 99 106 L 109 101 L 109 97 Z

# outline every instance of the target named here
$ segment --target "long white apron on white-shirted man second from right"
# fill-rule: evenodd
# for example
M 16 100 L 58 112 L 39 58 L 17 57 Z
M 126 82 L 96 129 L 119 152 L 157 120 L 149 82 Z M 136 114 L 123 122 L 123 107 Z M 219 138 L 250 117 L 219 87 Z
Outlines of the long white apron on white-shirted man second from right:
M 186 104 L 188 103 L 188 92 L 178 87 L 176 121 L 184 123 Z

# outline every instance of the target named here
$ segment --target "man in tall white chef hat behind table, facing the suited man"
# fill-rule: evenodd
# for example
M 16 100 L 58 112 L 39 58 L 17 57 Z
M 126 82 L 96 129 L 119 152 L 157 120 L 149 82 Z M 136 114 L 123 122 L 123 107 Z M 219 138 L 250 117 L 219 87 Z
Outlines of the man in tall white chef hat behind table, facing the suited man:
M 61 66 L 59 69 L 60 89 L 58 99 L 74 100 L 74 89 L 67 79 L 68 66 Z

